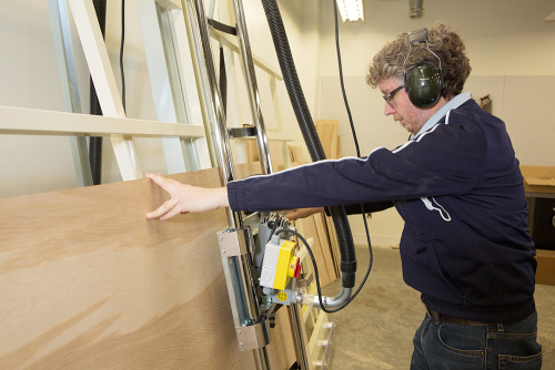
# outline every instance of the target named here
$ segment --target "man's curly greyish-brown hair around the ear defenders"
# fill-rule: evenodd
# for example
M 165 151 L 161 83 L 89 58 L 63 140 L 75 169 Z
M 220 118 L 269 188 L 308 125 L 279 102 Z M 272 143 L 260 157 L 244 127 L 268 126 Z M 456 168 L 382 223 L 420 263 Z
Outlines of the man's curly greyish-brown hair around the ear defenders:
M 427 29 L 427 38 L 430 50 L 441 59 L 442 63 L 442 96 L 450 100 L 463 91 L 472 70 L 465 54 L 466 48 L 461 37 L 441 21 Z M 405 63 L 406 55 L 408 59 Z M 366 82 L 376 88 L 380 81 L 391 76 L 403 81 L 405 70 L 408 72 L 422 63 L 440 66 L 437 58 L 426 49 L 424 42 L 410 45 L 408 33 L 401 33 L 374 56 L 366 74 Z

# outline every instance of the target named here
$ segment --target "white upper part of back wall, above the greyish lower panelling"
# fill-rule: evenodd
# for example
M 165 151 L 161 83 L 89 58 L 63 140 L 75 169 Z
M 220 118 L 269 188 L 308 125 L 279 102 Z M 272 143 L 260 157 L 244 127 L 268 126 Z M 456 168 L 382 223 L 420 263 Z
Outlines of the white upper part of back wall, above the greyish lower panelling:
M 555 10 L 553 0 L 424 0 L 424 17 L 408 18 L 408 1 L 364 0 L 365 21 L 340 28 L 347 75 L 364 74 L 373 55 L 400 32 L 424 28 L 436 20 L 454 24 L 468 50 L 474 75 L 555 74 L 551 62 L 555 22 L 543 19 Z M 322 53 L 332 55 L 333 8 L 322 10 Z M 335 75 L 333 58 L 321 58 L 322 75 Z

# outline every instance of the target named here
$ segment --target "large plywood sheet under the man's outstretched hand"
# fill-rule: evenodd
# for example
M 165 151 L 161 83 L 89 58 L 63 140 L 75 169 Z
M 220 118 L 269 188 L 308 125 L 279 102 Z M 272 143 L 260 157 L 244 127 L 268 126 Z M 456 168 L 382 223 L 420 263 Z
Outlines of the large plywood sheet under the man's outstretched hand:
M 170 177 L 220 184 L 215 169 Z M 0 369 L 255 369 L 215 236 L 225 212 L 148 220 L 165 198 L 139 179 L 0 199 Z M 289 369 L 279 314 L 269 356 Z

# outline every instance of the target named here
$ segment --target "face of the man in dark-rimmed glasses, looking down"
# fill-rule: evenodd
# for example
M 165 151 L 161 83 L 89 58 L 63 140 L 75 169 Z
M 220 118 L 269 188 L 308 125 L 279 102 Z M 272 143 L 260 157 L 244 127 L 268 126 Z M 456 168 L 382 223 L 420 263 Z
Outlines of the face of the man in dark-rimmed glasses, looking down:
M 403 82 L 394 78 L 389 78 L 377 83 L 380 91 L 384 95 L 390 94 L 402 85 Z M 406 131 L 414 135 L 418 133 L 424 123 L 426 123 L 427 119 L 430 119 L 433 114 L 430 110 L 414 106 L 404 88 L 392 94 L 384 104 L 384 114 L 393 114 L 393 120 L 400 122 Z

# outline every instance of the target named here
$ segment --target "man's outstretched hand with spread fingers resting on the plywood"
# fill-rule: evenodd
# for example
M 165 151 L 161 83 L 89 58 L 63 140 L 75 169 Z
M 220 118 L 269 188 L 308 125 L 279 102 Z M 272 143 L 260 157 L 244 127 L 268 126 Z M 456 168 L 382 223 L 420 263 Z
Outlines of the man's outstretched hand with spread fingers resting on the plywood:
M 158 209 L 148 213 L 147 218 L 168 219 L 179 214 L 214 210 L 230 205 L 226 187 L 191 186 L 167 178 L 161 174 L 147 173 L 145 176 L 171 196 Z

